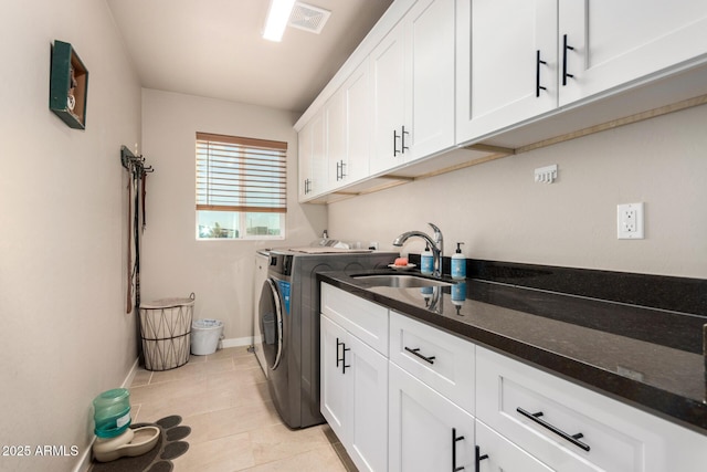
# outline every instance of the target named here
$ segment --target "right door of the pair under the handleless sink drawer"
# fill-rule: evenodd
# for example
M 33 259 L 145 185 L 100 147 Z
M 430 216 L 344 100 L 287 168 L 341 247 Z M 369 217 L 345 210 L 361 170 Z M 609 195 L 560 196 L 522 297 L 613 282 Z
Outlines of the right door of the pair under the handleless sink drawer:
M 347 451 L 360 471 L 388 466 L 388 359 L 356 336 L 346 342 Z

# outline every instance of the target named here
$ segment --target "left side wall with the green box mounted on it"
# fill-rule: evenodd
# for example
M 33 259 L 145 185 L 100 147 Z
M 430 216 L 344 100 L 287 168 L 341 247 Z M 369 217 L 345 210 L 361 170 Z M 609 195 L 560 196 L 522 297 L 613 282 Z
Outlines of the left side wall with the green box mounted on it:
M 140 87 L 104 1 L 2 1 L 0 444 L 93 439 L 92 400 L 136 359 L 126 314 L 127 176 Z M 49 109 L 51 45 L 88 69 L 86 129 Z M 0 470 L 70 470 L 80 457 L 0 457 Z

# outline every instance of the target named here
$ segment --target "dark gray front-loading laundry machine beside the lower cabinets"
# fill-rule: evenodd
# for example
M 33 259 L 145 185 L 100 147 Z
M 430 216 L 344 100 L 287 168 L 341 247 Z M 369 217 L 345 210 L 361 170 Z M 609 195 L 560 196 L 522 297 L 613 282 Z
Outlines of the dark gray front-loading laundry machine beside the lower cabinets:
M 289 428 L 324 422 L 319 412 L 317 272 L 384 268 L 397 255 L 271 251 L 258 304 L 261 344 L 255 349 L 262 349 L 273 402 Z

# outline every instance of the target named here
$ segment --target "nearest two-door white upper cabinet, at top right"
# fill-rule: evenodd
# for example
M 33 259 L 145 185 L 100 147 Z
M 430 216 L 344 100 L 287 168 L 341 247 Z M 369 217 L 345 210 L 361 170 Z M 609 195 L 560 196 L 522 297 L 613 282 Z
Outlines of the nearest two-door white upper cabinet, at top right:
M 458 0 L 457 141 L 704 60 L 705 31 L 705 0 Z

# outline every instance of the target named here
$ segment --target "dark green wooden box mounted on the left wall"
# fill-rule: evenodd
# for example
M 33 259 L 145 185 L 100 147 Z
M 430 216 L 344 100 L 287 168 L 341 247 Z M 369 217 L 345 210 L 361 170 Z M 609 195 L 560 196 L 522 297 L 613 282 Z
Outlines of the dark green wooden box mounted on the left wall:
M 88 71 L 70 43 L 54 41 L 49 108 L 68 126 L 86 128 Z

